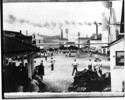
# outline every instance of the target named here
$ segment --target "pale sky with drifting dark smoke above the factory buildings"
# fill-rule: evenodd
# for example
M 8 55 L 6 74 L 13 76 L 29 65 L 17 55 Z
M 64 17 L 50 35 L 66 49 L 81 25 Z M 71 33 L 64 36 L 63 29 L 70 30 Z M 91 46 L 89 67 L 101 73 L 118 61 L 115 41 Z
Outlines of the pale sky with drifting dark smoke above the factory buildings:
M 121 0 L 113 2 L 116 20 L 121 20 Z M 109 9 L 102 2 L 33 2 L 4 3 L 3 29 L 22 30 L 23 34 L 60 35 L 63 29 L 69 30 L 69 39 L 75 41 L 78 32 L 81 37 L 91 36 L 96 32 L 94 22 L 102 23 L 102 15 L 109 17 Z M 103 33 L 99 26 L 99 32 Z

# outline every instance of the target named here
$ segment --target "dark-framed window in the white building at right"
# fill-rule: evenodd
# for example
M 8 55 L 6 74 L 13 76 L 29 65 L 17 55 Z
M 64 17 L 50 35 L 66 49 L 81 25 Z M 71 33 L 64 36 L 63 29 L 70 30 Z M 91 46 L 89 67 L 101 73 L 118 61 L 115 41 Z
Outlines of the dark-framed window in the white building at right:
M 116 51 L 116 66 L 124 66 L 124 51 Z

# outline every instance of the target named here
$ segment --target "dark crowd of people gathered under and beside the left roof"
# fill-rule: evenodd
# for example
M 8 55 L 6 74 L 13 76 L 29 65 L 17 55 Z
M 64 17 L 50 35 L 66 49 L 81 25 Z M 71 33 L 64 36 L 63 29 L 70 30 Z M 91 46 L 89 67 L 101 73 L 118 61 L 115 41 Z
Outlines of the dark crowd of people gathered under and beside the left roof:
M 44 66 L 37 66 L 32 77 L 28 77 L 28 65 L 9 61 L 3 66 L 3 91 L 4 92 L 42 92 L 45 84 L 42 82 Z M 42 71 L 42 72 L 41 72 Z

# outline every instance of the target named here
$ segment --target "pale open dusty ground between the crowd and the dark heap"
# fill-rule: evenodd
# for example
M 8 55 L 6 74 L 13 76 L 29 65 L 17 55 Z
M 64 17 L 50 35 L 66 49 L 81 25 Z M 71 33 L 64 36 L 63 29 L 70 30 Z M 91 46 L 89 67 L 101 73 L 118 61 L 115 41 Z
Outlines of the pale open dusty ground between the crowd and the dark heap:
M 103 73 L 109 72 L 110 62 L 107 60 L 107 57 L 99 56 L 102 60 Z M 90 57 L 89 54 L 73 54 L 73 57 L 65 58 L 64 54 L 56 54 L 53 56 L 55 60 L 54 71 L 51 71 L 50 67 L 50 57 L 45 61 L 44 58 L 35 59 L 35 66 L 40 64 L 40 61 L 44 61 L 45 66 L 45 75 L 43 77 L 43 82 L 46 84 L 45 92 L 68 92 L 68 87 L 74 81 L 74 76 L 72 76 L 72 62 L 74 58 L 77 59 L 79 63 L 78 71 L 82 71 L 87 68 L 89 58 L 94 61 L 93 57 Z

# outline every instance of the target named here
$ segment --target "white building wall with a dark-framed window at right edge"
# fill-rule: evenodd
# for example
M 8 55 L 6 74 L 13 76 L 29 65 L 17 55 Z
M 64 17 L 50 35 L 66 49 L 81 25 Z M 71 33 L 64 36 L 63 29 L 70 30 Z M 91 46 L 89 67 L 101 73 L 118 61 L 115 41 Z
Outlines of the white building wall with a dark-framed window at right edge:
M 121 38 L 109 45 L 112 92 L 122 92 L 123 83 L 125 84 L 124 44 L 124 38 Z

